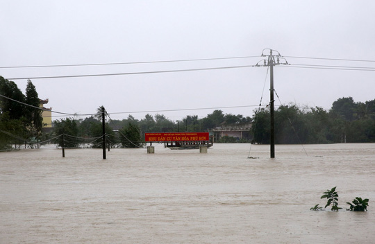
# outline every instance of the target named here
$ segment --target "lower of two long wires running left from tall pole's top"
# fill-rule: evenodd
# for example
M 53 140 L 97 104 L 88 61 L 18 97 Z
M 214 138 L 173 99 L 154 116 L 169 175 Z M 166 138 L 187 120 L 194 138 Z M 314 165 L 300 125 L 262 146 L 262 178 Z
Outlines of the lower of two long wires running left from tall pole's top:
M 175 70 L 164 70 L 164 71 L 144 71 L 144 72 L 130 72 L 130 73 L 99 73 L 99 74 L 87 74 L 87 75 L 76 75 L 76 76 L 40 76 L 40 77 L 8 78 L 8 80 L 79 78 L 79 77 L 94 77 L 94 76 L 128 76 L 128 75 L 139 75 L 139 74 L 148 74 L 148 73 L 172 73 L 172 72 L 203 71 L 203 70 L 215 70 L 215 69 L 239 69 L 239 68 L 248 68 L 248 67 L 255 67 L 255 65 L 213 67 L 213 68 L 203 68 L 203 69 L 175 69 Z

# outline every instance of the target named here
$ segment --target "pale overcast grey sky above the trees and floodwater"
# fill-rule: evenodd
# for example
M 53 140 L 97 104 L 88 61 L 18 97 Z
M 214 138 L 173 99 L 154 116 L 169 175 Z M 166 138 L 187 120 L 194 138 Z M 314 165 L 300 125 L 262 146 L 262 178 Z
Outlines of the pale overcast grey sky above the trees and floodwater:
M 0 76 L 35 78 L 254 65 L 239 58 L 80 67 L 3 68 L 260 56 L 274 49 L 290 64 L 375 67 L 375 1 L 2 1 Z M 269 51 L 265 51 L 266 54 Z M 154 110 L 269 103 L 267 67 L 31 79 L 47 107 L 88 114 L 103 105 L 112 119 Z M 281 103 L 331 108 L 333 101 L 375 98 L 369 71 L 275 67 Z M 13 80 L 24 92 L 26 79 Z M 276 105 L 280 101 L 276 100 Z M 257 107 L 222 108 L 251 116 Z M 172 120 L 210 110 L 158 112 Z M 145 113 L 132 113 L 142 119 Z M 156 114 L 156 112 L 150 112 Z M 58 115 L 58 114 L 53 114 Z M 60 118 L 60 117 L 56 117 Z

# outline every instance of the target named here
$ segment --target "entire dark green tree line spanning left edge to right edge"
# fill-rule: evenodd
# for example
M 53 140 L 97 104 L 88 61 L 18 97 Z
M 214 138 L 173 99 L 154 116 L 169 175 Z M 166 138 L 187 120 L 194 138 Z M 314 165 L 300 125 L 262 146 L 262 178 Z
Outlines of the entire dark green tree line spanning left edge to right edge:
M 0 94 L 0 149 L 53 137 L 56 137 L 53 143 L 67 148 L 82 144 L 102 147 L 102 106 L 95 116 L 53 121 L 52 132 L 43 133 L 42 110 L 36 108 L 40 106 L 40 99 L 30 80 L 23 94 L 15 82 L 0 76 Z M 253 117 L 245 117 L 215 110 L 203 118 L 188 115 L 177 121 L 167 119 L 163 114 L 146 114 L 140 120 L 131 115 L 122 120 L 106 116 L 106 141 L 110 147 L 135 148 L 142 146 L 145 132 L 213 132 L 223 126 L 241 127 L 251 123 L 252 142 L 269 143 L 269 108 L 254 112 Z M 283 105 L 276 109 L 274 121 L 276 143 L 375 142 L 375 100 L 362 103 L 354 102 L 351 97 L 339 98 L 328 111 L 322 107 L 306 110 L 293 104 Z M 236 141 L 228 136 L 219 139 L 224 143 Z

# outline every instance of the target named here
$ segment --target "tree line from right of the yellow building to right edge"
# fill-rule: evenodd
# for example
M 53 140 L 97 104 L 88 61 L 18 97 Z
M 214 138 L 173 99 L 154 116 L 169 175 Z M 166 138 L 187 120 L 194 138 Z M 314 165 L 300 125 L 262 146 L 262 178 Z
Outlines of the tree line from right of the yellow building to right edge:
M 98 116 L 75 120 L 77 132 L 74 135 L 100 137 L 100 111 L 101 107 L 98 108 Z M 275 110 L 274 118 L 276 143 L 375 142 L 375 99 L 356 103 L 351 97 L 339 98 L 328 111 L 322 107 L 306 110 L 295 104 L 282 105 Z M 58 123 L 63 122 L 62 119 Z M 241 126 L 247 123 L 252 123 L 249 133 L 252 135 L 251 140 L 224 136 L 216 138 L 216 141 L 269 143 L 270 116 L 269 109 L 264 107 L 256 110 L 253 118 L 224 114 L 222 110 L 215 110 L 202 119 L 188 115 L 176 122 L 163 114 L 147 114 L 140 120 L 129 115 L 127 119 L 106 122 L 106 132 L 110 134 L 109 139 L 113 145 L 121 143 L 122 147 L 131 148 L 142 145 L 145 132 L 212 132 L 219 126 Z M 119 130 L 119 133 L 116 134 L 113 130 Z M 58 130 L 54 131 L 55 134 L 59 133 Z M 101 144 L 97 147 L 101 147 Z

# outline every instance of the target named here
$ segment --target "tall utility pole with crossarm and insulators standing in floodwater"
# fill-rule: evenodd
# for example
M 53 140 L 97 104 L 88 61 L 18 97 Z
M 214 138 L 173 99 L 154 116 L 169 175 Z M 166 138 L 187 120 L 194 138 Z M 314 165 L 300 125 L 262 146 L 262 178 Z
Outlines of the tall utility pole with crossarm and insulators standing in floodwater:
M 263 52 L 265 51 L 266 49 L 263 49 Z M 275 157 L 275 127 L 274 127 L 274 65 L 278 65 L 278 64 L 281 64 L 280 63 L 280 58 L 281 59 L 284 59 L 282 58 L 282 56 L 280 55 L 280 53 L 278 53 L 278 51 L 276 51 L 278 53 L 278 55 L 276 55 L 277 57 L 277 61 L 275 61 L 275 56 L 272 54 L 272 51 L 275 51 L 275 50 L 272 50 L 272 49 L 269 49 L 269 55 L 264 55 L 263 52 L 262 52 L 262 57 L 265 57 L 265 56 L 268 56 L 268 60 L 263 60 L 264 61 L 264 65 L 262 66 L 269 66 L 269 114 L 271 116 L 271 119 L 270 119 L 270 151 L 271 151 L 271 158 L 273 159 Z M 285 60 L 285 59 L 284 59 Z M 285 63 L 282 63 L 282 64 L 288 64 L 288 62 L 285 60 Z M 260 66 L 258 64 L 256 64 L 256 66 Z

